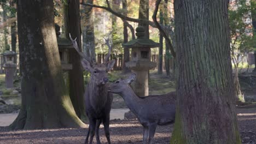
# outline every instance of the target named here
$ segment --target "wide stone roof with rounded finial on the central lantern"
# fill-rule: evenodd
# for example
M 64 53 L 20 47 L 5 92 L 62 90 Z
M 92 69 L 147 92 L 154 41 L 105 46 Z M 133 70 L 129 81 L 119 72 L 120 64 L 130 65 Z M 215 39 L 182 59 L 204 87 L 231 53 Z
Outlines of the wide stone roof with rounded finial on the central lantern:
M 159 43 L 151 39 L 145 38 L 145 29 L 143 26 L 138 26 L 136 28 L 137 39 L 133 39 L 123 44 L 124 48 L 153 48 L 159 47 Z

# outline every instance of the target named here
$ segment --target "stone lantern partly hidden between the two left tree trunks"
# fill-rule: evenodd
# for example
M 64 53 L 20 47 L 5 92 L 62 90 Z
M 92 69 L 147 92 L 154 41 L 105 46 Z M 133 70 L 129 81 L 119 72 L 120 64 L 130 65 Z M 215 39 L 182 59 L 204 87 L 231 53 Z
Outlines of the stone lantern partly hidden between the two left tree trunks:
M 69 63 L 69 49 L 73 49 L 73 44 L 66 38 L 60 38 L 60 26 L 55 24 L 55 31 L 57 35 L 57 43 L 59 47 L 61 67 L 62 70 L 67 71 L 72 69 L 72 64 Z

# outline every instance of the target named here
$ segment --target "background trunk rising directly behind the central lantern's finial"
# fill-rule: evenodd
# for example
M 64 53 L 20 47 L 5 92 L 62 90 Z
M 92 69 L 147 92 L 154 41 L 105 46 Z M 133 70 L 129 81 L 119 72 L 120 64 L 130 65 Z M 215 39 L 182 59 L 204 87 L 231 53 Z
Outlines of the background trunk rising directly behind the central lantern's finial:
M 139 0 L 139 19 L 149 20 L 149 1 Z M 149 39 L 149 25 L 148 22 L 139 22 L 138 26 L 145 28 L 145 38 Z

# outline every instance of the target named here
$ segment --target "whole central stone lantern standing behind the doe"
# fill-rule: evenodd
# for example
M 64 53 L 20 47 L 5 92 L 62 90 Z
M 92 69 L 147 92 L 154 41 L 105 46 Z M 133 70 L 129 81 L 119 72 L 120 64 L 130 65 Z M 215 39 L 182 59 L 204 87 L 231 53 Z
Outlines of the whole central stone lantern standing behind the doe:
M 133 91 L 139 96 L 148 95 L 148 70 L 155 68 L 156 63 L 150 61 L 150 48 L 158 47 L 159 43 L 155 43 L 151 39 L 144 38 L 145 29 L 142 26 L 136 28 L 137 39 L 133 39 L 126 44 L 124 48 L 131 48 L 131 61 L 126 62 L 126 67 L 136 73 L 137 78 L 133 82 Z

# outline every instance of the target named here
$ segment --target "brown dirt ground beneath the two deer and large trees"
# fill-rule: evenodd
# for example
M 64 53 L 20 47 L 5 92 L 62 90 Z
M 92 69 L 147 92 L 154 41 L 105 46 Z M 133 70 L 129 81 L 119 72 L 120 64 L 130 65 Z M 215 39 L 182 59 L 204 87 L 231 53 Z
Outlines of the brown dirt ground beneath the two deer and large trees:
M 239 108 L 237 113 L 242 143 L 256 144 L 256 106 Z M 158 126 L 154 143 L 169 143 L 172 130 L 173 125 Z M 0 143 L 84 143 L 87 131 L 88 128 L 9 131 L 0 127 Z M 110 122 L 110 139 L 113 144 L 142 143 L 142 131 L 142 126 L 136 120 Z M 100 137 L 102 143 L 107 143 L 102 125 Z

